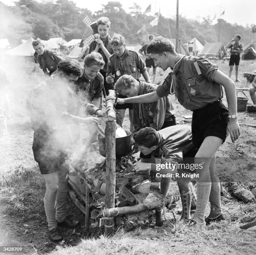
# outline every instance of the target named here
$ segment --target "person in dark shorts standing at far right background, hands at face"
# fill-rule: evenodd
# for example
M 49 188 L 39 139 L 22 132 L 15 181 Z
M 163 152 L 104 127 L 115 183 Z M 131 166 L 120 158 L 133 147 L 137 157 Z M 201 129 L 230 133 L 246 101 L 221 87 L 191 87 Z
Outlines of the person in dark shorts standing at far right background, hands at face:
M 240 53 L 243 52 L 243 45 L 242 43 L 239 43 L 239 40 L 241 39 L 241 35 L 236 35 L 235 38 L 233 38 L 230 43 L 228 43 L 227 48 L 231 48 L 230 50 L 230 60 L 229 60 L 229 78 L 231 77 L 233 66 L 236 65 L 236 81 L 238 80 L 238 66 L 240 62 Z

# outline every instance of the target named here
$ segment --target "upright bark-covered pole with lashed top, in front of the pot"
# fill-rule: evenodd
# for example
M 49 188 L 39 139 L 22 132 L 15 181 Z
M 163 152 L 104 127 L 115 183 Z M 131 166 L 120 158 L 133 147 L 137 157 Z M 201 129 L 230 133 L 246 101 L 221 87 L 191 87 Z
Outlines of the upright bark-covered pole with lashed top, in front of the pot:
M 110 90 L 109 96 L 115 97 L 115 91 Z M 106 102 L 108 121 L 106 122 L 106 193 L 105 205 L 111 209 L 115 207 L 115 109 L 114 101 Z M 114 217 L 105 217 L 105 234 L 112 234 L 114 231 Z

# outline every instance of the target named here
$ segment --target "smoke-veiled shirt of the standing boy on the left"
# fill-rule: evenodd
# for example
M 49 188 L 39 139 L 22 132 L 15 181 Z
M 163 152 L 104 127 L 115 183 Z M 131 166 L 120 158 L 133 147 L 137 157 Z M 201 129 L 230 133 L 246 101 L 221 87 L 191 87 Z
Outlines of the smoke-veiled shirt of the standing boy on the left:
M 75 93 L 71 92 L 68 88 L 58 91 L 52 77 L 34 88 L 31 97 L 31 124 L 34 131 L 59 130 L 63 125 L 77 124 L 81 108 L 95 114 L 98 109 L 96 106 L 81 104 Z

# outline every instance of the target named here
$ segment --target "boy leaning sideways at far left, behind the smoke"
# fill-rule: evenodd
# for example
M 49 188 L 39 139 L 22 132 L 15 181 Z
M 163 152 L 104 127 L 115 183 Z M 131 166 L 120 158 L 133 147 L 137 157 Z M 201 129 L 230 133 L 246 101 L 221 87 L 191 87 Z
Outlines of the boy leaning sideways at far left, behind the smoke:
M 47 50 L 44 44 L 38 38 L 32 42 L 32 46 L 36 52 L 34 57 L 44 73 L 51 76 L 57 70 L 57 66 L 63 58 L 54 50 Z

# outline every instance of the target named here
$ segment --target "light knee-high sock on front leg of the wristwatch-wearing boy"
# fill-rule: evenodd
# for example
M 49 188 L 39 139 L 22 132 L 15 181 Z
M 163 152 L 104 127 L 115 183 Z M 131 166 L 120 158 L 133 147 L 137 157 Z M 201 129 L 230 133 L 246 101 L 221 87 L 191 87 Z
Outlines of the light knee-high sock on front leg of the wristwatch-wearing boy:
M 202 224 L 205 222 L 205 210 L 211 192 L 211 182 L 197 182 L 197 208 L 192 220 Z

